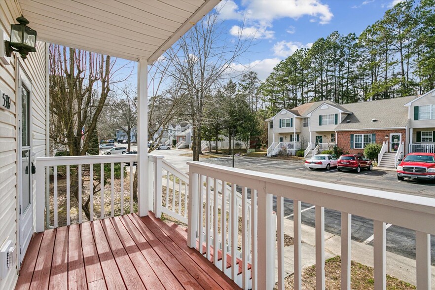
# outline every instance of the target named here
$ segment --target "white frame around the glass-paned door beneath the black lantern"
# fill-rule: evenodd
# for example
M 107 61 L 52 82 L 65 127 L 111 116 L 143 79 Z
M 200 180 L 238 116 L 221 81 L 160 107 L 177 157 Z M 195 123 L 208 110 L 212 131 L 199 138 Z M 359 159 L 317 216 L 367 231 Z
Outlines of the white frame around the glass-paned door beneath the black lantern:
M 32 128 L 32 82 L 26 72 L 24 71 L 23 67 L 19 64 L 17 64 L 17 85 L 16 85 L 16 104 L 17 104 L 17 170 L 18 170 L 18 183 L 17 183 L 17 202 L 18 202 L 18 257 L 19 257 L 19 263 L 23 262 L 24 255 L 26 253 L 26 250 L 29 246 L 30 239 L 32 238 L 34 229 L 33 229 L 33 177 L 32 177 L 32 162 L 34 156 L 33 156 L 33 147 L 32 147 L 32 139 L 33 139 L 33 128 Z M 23 168 L 22 164 L 22 134 L 21 134 L 21 120 L 22 120 L 22 113 L 21 113 L 21 88 L 22 86 L 25 86 L 25 88 L 29 91 L 29 97 L 28 97 L 28 138 L 29 138 L 29 146 L 24 147 L 25 150 L 29 151 L 29 164 L 28 164 L 28 173 L 30 175 L 30 183 L 29 188 L 30 190 L 30 204 L 26 209 L 22 208 L 23 204 L 23 171 L 26 169 Z

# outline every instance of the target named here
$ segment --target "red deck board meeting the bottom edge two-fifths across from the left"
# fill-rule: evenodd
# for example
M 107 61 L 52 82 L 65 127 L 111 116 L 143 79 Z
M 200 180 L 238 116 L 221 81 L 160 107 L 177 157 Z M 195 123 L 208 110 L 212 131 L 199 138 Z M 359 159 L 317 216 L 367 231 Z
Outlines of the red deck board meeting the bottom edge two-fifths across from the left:
M 134 223 L 127 216 L 120 217 L 120 220 L 126 230 L 129 232 L 130 237 L 135 242 L 146 261 L 149 263 L 153 271 L 160 278 L 161 283 L 168 290 L 181 290 L 184 289 L 181 283 L 177 280 L 170 269 L 165 265 L 163 260 L 157 255 L 154 249 L 145 240 L 142 233 L 134 225 Z

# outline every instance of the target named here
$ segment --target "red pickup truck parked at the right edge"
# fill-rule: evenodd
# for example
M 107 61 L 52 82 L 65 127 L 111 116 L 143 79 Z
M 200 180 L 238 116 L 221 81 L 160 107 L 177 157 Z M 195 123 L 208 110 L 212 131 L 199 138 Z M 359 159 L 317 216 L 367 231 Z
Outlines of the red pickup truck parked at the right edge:
M 397 179 L 405 177 L 435 181 L 435 153 L 409 153 L 400 160 L 397 167 Z

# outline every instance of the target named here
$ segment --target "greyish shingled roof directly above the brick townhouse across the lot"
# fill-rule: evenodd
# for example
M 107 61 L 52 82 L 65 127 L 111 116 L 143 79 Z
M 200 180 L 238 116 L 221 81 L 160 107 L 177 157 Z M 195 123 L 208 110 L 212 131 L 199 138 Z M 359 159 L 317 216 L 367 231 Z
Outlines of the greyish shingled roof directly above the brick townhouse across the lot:
M 347 115 L 335 130 L 405 128 L 408 108 L 404 105 L 415 98 L 417 96 L 345 104 L 343 107 L 353 113 Z

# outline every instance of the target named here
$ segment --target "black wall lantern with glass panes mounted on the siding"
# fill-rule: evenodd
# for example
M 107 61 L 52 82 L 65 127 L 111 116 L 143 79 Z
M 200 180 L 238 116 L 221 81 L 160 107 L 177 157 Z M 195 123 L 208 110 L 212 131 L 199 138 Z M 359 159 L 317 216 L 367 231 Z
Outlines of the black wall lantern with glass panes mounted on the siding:
M 37 33 L 32 28 L 28 27 L 29 20 L 23 17 L 17 18 L 19 24 L 10 26 L 10 41 L 5 40 L 6 56 L 11 56 L 13 51 L 18 52 L 21 58 L 25 60 L 29 52 L 36 52 L 36 36 Z

